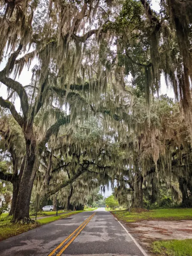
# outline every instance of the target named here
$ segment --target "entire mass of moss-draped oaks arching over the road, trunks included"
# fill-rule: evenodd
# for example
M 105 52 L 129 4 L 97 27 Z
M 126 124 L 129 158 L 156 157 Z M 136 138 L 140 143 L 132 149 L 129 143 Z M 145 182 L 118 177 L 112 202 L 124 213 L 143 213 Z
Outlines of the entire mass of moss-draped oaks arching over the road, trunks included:
M 192 205 L 191 24 L 192 0 L 158 12 L 149 0 L 0 0 L 0 179 L 14 222 L 30 221 L 32 195 L 69 208 L 110 183 L 122 203 L 132 189 L 133 207 L 164 185 Z

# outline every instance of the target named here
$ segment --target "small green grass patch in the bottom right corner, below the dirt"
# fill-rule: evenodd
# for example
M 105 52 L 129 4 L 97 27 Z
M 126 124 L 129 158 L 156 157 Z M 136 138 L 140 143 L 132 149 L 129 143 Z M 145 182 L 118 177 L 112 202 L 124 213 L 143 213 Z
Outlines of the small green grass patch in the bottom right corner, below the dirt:
M 152 251 L 160 256 L 192 256 L 192 239 L 156 241 Z

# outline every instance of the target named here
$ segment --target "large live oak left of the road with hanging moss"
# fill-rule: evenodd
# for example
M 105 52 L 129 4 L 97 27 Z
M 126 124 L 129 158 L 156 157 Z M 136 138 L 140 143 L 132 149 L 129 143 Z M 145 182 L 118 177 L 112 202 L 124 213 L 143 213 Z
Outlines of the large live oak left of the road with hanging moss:
M 15 106 L 9 100 L 0 98 L 0 105 L 11 111 L 22 128 L 26 141 L 25 167 L 13 221 L 28 221 L 29 202 L 39 166 L 39 155 L 51 135 L 56 133 L 61 125 L 70 122 L 69 115 L 60 116 L 39 139 L 33 127 L 35 116 L 41 111 L 43 105 L 48 104 L 49 91 L 52 92 L 55 89 L 54 91 L 62 92 L 62 96 L 65 96 L 68 88 L 75 89 L 70 84 L 71 79 L 73 81 L 78 79 L 81 59 L 85 51 L 83 45 L 85 46 L 84 43 L 87 39 L 96 34 L 98 29 L 88 31 L 81 37 L 76 35 L 76 32 L 82 30 L 83 19 L 95 16 L 95 11 L 91 11 L 86 1 L 83 4 L 73 3 L 73 5 L 59 1 L 54 4 L 52 2 L 49 4 L 48 1 L 18 1 L 17 3 L 5 1 L 1 5 L 5 9 L 0 19 L 2 29 L 0 52 L 3 56 L 3 52 L 7 49 L 10 54 L 6 67 L 0 72 L 0 81 L 9 88 L 10 93 L 17 93 L 20 98 L 22 114 L 17 113 Z M 56 12 L 59 14 L 58 19 Z M 89 12 L 89 17 L 87 17 L 87 12 Z M 49 15 L 49 19 L 47 19 L 47 15 Z M 38 20 L 40 16 L 41 22 Z M 47 29 L 48 27 L 49 29 Z M 33 50 L 25 53 L 27 47 L 31 46 Z M 24 56 L 18 59 L 21 52 L 24 53 Z M 16 78 L 25 65 L 30 66 L 34 58 L 38 58 L 39 66 L 35 66 L 32 70 L 34 82 L 31 86 L 34 90 L 29 99 L 26 89 L 10 75 L 14 71 Z M 50 84 L 52 84 L 52 89 Z

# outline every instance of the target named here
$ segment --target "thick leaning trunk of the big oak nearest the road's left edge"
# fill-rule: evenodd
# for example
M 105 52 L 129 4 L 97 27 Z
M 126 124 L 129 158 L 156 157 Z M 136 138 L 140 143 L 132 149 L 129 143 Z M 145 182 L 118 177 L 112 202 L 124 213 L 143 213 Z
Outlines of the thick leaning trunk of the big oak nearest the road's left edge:
M 32 133 L 31 129 L 29 132 L 30 137 L 26 137 L 26 163 L 20 182 L 19 193 L 13 214 L 13 222 L 25 223 L 30 221 L 30 199 L 39 161 L 35 135 Z

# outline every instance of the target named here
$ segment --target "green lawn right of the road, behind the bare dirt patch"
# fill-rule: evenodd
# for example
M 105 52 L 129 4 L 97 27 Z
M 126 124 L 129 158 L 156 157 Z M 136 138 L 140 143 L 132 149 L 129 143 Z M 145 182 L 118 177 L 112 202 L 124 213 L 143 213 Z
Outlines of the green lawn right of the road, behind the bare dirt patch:
M 192 219 L 192 208 L 177 208 L 177 209 L 155 209 L 145 210 L 132 209 L 131 212 L 126 210 L 112 211 L 116 218 L 126 222 L 136 222 L 150 219 L 164 220 L 188 220 Z

